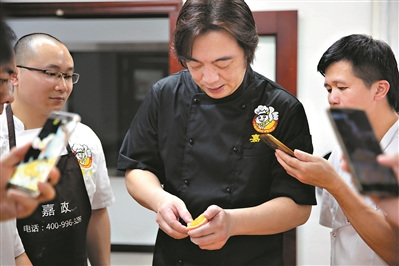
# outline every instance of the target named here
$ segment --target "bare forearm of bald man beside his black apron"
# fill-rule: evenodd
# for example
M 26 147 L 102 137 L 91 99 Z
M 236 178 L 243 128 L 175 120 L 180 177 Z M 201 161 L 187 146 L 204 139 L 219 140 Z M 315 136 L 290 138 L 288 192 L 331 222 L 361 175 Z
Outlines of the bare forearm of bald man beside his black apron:
M 92 211 L 86 246 L 91 265 L 110 265 L 111 228 L 106 208 Z

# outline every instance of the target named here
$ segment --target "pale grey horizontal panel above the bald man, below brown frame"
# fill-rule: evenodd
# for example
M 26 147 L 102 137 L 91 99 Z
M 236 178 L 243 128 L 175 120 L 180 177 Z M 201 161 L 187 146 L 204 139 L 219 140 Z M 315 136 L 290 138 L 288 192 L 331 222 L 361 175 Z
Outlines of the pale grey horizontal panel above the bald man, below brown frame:
M 140 19 L 8 19 L 17 38 L 31 32 L 46 32 L 64 42 L 70 50 L 95 49 L 95 44 L 169 42 L 167 18 Z

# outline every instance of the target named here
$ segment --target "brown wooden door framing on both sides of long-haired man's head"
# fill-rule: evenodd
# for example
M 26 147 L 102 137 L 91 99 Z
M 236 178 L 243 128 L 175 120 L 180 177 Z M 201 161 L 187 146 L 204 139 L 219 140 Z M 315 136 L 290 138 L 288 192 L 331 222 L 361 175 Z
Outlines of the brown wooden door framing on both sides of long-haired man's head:
M 181 0 L 152 0 L 134 2 L 30 2 L 2 3 L 7 17 L 58 17 L 71 18 L 139 18 L 168 17 L 170 49 Z M 257 11 L 253 12 L 259 35 L 276 38 L 276 82 L 291 92 L 297 93 L 297 23 L 298 12 Z M 183 67 L 173 53 L 169 55 L 169 73 Z

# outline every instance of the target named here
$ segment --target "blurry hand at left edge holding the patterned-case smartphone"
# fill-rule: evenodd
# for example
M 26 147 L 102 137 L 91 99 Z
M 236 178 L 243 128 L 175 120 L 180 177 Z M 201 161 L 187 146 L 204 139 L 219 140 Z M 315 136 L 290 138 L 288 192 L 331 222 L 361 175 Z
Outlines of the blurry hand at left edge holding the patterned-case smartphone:
M 38 184 L 40 194 L 36 198 L 16 189 L 7 190 L 8 181 L 15 171 L 16 164 L 24 158 L 29 147 L 30 143 L 13 148 L 0 159 L 0 221 L 29 216 L 40 202 L 52 200 L 55 196 L 53 185 L 58 182 L 60 176 L 56 167 L 50 171 L 49 182 Z

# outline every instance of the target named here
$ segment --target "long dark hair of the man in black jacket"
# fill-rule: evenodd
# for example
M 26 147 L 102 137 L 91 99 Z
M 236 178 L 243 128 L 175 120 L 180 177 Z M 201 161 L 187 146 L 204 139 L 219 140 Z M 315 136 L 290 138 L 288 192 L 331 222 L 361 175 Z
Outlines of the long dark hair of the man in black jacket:
M 187 68 L 194 39 L 208 31 L 230 33 L 244 50 L 247 64 L 254 60 L 258 32 L 244 0 L 187 0 L 180 10 L 173 36 L 174 53 Z

